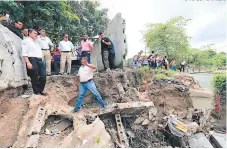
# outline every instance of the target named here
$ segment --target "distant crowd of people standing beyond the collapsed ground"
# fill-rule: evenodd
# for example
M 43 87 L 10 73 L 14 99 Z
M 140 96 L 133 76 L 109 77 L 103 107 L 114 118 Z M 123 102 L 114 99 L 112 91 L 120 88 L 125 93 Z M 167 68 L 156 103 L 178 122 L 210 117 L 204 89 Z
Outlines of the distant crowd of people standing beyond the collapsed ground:
M 165 68 L 171 69 L 173 71 L 177 70 L 177 62 L 176 60 L 172 60 L 171 63 L 169 63 L 167 56 L 164 58 L 162 56 L 159 56 L 158 54 L 155 54 L 154 51 L 151 52 L 149 56 L 142 56 L 143 51 L 141 50 L 137 55 L 133 57 L 133 66 L 134 68 L 140 68 L 143 66 L 149 66 L 152 69 L 156 68 Z M 186 60 L 184 59 L 180 63 L 180 71 L 185 71 L 185 65 L 186 65 Z

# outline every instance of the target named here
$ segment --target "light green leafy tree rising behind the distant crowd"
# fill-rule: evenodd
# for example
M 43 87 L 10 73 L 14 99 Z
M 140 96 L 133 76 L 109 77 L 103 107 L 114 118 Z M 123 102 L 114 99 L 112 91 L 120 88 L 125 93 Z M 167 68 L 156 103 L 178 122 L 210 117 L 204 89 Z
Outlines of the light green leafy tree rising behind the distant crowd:
M 144 34 L 149 50 L 166 55 L 169 59 L 182 60 L 189 49 L 189 37 L 185 33 L 188 21 L 175 17 L 166 23 L 149 24 Z

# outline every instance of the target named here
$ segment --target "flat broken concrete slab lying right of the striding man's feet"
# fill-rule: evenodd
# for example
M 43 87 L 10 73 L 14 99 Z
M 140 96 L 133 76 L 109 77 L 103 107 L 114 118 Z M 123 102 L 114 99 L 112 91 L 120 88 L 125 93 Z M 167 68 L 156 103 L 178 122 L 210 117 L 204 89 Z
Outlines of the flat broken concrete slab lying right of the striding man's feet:
M 127 103 L 114 103 L 110 105 L 107 109 L 102 110 L 99 116 L 108 116 L 114 114 L 120 114 L 121 117 L 130 117 L 138 115 L 144 110 L 149 110 L 154 107 L 153 102 L 127 102 Z

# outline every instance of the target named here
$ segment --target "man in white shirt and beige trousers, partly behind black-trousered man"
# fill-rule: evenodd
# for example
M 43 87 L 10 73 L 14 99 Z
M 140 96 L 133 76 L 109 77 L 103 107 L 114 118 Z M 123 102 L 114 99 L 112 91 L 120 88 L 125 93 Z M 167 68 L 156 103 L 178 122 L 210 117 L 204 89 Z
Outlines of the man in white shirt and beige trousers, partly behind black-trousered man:
M 40 35 L 38 36 L 38 43 L 42 49 L 42 53 L 43 53 L 43 59 L 46 63 L 46 72 L 47 72 L 47 76 L 51 75 L 51 54 L 50 54 L 50 50 L 53 51 L 54 48 L 54 44 L 52 43 L 52 41 L 50 40 L 49 37 L 46 36 L 46 32 L 43 28 L 41 28 L 39 30 Z M 51 49 L 50 49 L 51 47 Z

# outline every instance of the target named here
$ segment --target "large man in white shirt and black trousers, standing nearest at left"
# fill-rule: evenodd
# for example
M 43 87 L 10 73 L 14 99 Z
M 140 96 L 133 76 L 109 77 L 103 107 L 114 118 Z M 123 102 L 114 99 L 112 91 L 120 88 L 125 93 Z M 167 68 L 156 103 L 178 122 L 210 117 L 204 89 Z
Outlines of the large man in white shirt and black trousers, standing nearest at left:
M 46 67 L 42 61 L 41 47 L 37 42 L 37 32 L 28 30 L 29 37 L 22 41 L 22 56 L 27 67 L 27 74 L 31 78 L 34 94 L 46 96 L 43 92 L 46 85 Z

